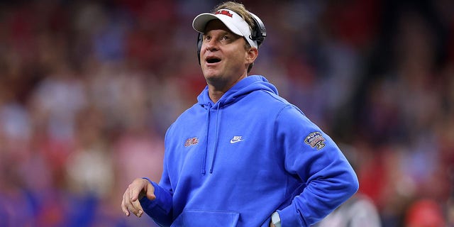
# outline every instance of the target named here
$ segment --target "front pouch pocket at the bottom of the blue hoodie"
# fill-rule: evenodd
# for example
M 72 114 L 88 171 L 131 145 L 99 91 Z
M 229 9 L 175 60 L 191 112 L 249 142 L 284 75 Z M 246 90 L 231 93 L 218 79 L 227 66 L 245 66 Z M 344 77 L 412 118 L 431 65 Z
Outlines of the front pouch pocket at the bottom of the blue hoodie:
M 240 214 L 231 211 L 196 211 L 186 210 L 172 223 L 175 227 L 226 226 L 238 224 Z

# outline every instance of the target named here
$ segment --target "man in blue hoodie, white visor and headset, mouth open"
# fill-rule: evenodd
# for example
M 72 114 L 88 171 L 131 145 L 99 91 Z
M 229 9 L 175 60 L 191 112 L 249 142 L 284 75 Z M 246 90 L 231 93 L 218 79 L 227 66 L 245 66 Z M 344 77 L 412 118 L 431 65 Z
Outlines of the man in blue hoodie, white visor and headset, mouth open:
M 208 85 L 167 130 L 159 184 L 135 179 L 126 189 L 127 216 L 145 212 L 160 226 L 310 226 L 358 190 L 333 140 L 265 77 L 248 76 L 265 36 L 254 18 L 233 2 L 194 18 Z

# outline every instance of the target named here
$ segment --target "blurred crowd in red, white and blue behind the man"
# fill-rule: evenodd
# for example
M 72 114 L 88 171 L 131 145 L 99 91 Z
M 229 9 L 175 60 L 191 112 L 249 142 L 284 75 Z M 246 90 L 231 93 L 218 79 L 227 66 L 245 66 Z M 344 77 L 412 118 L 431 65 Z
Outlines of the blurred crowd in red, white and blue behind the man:
M 0 226 L 124 217 L 206 82 L 192 19 L 219 1 L 0 1 Z M 253 74 L 338 142 L 382 226 L 454 226 L 454 2 L 245 0 Z

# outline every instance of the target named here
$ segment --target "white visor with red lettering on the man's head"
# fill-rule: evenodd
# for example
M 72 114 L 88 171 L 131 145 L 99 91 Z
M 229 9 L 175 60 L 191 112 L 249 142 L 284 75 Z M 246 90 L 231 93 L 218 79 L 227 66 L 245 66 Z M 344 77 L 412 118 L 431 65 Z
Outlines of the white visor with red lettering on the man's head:
M 192 21 L 192 28 L 199 33 L 204 33 L 206 23 L 218 19 L 224 23 L 231 32 L 243 36 L 251 47 L 258 48 L 257 42 L 251 38 L 251 30 L 246 21 L 229 9 L 220 9 L 216 13 L 201 13 Z

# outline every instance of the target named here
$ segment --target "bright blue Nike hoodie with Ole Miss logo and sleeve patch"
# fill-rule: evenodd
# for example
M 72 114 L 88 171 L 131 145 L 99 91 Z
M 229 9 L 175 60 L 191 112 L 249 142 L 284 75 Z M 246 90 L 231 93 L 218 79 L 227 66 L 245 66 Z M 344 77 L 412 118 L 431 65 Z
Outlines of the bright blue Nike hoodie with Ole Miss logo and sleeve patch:
M 156 199 L 160 226 L 310 226 L 358 190 L 338 146 L 262 76 L 215 103 L 206 87 L 165 135 Z

